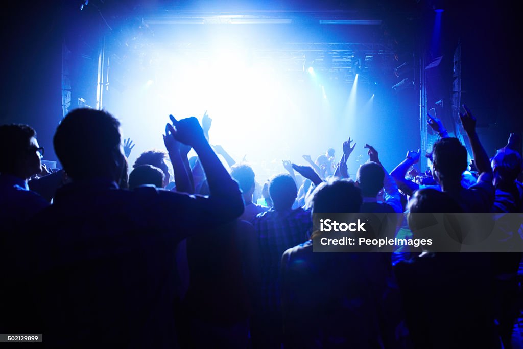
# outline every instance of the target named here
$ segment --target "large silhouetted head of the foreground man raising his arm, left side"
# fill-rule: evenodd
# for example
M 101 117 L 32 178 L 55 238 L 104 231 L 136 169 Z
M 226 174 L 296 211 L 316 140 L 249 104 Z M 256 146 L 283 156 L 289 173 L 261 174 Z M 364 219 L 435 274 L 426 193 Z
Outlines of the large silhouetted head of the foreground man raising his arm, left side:
M 107 178 L 118 183 L 124 162 L 120 122 L 107 111 L 71 111 L 56 128 L 53 144 L 73 180 Z

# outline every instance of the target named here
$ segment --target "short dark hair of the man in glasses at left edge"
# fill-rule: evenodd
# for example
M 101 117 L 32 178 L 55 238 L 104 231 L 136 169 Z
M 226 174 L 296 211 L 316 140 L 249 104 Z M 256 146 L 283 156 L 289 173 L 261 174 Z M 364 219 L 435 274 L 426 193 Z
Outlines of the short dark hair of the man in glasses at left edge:
M 0 126 L 0 173 L 16 171 L 16 161 L 27 151 L 32 137 L 36 137 L 36 131 L 29 125 L 12 123 Z

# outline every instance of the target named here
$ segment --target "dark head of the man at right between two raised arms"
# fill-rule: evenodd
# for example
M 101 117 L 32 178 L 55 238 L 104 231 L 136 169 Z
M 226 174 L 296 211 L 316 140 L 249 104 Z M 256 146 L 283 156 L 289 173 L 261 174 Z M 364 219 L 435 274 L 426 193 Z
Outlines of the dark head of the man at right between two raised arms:
M 436 182 L 445 180 L 461 181 L 461 174 L 467 170 L 467 149 L 457 138 L 442 138 L 432 148 L 432 175 Z

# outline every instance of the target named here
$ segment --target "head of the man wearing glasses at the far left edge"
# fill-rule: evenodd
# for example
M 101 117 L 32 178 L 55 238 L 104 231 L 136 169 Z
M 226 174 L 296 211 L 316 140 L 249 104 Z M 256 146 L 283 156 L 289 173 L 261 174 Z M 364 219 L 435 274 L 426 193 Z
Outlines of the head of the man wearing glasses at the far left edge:
M 0 149 L 0 173 L 28 179 L 42 171 L 42 150 L 30 126 L 0 126 Z

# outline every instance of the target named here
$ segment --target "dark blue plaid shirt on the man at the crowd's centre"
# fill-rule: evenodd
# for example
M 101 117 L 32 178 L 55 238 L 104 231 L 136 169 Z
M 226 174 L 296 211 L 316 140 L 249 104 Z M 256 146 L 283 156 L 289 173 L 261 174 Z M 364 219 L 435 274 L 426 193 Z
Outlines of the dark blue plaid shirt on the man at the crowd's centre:
M 280 265 L 283 252 L 309 240 L 311 213 L 295 210 L 259 213 L 253 220 L 261 255 L 258 306 L 264 311 L 280 310 Z

